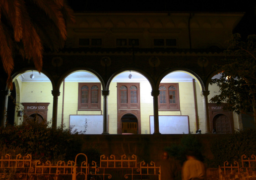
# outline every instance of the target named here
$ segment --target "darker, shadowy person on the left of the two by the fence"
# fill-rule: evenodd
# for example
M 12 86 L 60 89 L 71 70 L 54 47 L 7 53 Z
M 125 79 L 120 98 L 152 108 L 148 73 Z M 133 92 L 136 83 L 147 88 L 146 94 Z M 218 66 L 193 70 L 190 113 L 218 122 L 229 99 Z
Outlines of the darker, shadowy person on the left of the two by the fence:
M 169 158 L 168 152 L 163 152 L 159 165 L 159 180 L 174 180 L 175 176 L 177 176 L 177 167 L 174 159 Z

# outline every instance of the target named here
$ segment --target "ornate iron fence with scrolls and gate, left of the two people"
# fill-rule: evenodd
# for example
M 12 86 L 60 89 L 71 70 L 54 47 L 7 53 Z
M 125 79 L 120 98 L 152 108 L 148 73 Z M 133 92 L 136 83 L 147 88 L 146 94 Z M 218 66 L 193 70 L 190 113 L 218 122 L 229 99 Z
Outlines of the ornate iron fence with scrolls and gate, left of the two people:
M 83 159 L 81 164 L 78 164 L 79 158 Z M 6 154 L 0 159 L 0 179 L 158 179 L 159 168 L 153 161 L 150 164 L 138 162 L 136 155 L 127 157 L 124 154 L 120 158 L 101 155 L 99 164 L 96 161 L 89 164 L 83 153 L 77 154 L 75 161 L 67 163 L 41 162 L 32 160 L 31 155 Z

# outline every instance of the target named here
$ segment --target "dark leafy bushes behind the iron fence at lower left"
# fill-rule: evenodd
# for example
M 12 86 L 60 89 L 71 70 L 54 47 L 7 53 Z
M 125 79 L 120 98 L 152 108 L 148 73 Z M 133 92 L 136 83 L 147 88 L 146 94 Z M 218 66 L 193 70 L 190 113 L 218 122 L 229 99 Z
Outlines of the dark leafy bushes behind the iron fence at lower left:
M 2 154 L 31 154 L 33 159 L 74 160 L 80 153 L 82 142 L 70 129 L 52 129 L 48 125 L 31 121 L 17 126 L 0 127 Z

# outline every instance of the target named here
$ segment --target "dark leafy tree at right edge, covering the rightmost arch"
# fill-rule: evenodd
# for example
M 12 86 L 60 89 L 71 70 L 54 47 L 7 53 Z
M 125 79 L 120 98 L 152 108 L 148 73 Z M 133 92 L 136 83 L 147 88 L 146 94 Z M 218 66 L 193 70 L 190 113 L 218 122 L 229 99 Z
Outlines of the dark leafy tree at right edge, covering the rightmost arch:
M 249 35 L 246 41 L 242 41 L 239 34 L 234 34 L 225 53 L 225 65 L 217 67 L 221 77 L 210 82 L 217 84 L 220 91 L 210 101 L 224 103 L 224 110 L 237 114 L 251 115 L 254 112 L 256 118 L 256 35 Z

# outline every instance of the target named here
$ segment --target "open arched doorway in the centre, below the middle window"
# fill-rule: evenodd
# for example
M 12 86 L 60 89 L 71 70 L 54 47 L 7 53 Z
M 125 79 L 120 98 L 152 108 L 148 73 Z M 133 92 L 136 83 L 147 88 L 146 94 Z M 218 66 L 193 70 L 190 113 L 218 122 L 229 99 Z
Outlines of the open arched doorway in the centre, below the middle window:
M 138 119 L 133 114 L 124 114 L 121 117 L 122 122 L 122 134 L 132 133 L 138 134 Z

